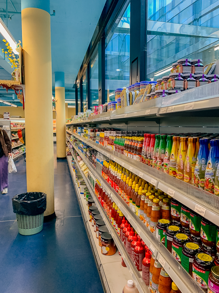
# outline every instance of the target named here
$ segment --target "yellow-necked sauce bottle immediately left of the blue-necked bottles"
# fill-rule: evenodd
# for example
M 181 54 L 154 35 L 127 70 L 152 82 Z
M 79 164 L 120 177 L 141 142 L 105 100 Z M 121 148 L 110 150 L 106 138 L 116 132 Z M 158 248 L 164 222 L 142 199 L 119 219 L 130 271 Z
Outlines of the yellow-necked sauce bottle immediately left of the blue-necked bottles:
M 197 137 L 188 138 L 188 148 L 184 165 L 184 181 L 189 184 L 194 184 L 194 171 L 197 161 Z

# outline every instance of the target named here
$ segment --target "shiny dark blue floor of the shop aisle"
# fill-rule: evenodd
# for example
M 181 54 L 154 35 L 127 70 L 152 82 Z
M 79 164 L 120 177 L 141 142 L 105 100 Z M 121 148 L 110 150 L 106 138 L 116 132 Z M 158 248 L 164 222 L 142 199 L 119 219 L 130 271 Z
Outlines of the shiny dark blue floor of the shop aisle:
M 0 292 L 103 293 L 67 160 L 54 160 L 58 218 L 32 236 L 20 235 L 14 221 L 11 198 L 27 190 L 24 159 L 15 165 L 8 194 L 0 193 Z

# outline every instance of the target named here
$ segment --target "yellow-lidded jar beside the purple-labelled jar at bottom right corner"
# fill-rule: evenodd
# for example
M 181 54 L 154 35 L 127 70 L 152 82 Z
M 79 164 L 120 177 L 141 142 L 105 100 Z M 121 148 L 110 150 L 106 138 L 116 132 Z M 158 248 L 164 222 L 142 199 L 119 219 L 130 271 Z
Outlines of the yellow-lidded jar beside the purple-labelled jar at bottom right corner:
M 192 265 L 192 277 L 198 283 L 204 292 L 208 291 L 208 275 L 214 265 L 211 255 L 206 253 L 197 253 Z

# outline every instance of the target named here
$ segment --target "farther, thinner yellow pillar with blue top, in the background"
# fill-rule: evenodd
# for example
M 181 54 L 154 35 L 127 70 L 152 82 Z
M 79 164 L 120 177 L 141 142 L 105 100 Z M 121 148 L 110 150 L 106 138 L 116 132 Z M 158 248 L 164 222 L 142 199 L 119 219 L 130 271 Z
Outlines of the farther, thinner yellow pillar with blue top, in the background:
M 55 111 L 57 160 L 66 159 L 65 73 L 55 72 Z

